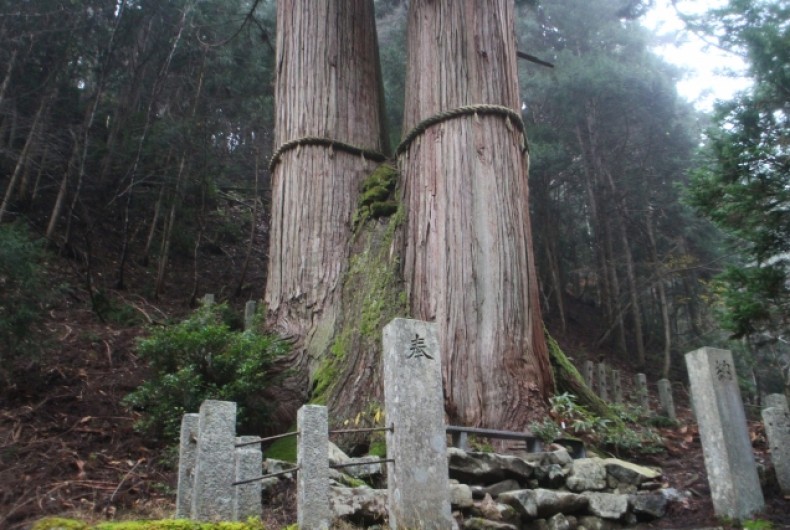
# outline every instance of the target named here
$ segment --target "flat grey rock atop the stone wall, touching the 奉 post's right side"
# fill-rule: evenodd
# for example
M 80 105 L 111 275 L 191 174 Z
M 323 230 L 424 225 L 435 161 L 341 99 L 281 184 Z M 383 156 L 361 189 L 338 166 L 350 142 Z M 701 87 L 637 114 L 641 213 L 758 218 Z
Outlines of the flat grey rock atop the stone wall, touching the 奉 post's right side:
M 450 478 L 467 484 L 490 484 L 511 478 L 526 482 L 534 473 L 534 464 L 512 455 L 467 453 L 457 447 L 447 448 Z

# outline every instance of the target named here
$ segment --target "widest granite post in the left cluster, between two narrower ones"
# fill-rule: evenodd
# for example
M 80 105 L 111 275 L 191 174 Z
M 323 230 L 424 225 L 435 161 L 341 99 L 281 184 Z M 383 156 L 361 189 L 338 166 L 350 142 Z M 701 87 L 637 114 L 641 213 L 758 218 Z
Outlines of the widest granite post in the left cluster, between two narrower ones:
M 233 458 L 236 442 L 236 404 L 206 400 L 198 419 L 195 486 L 192 516 L 195 521 L 229 521 L 233 517 Z

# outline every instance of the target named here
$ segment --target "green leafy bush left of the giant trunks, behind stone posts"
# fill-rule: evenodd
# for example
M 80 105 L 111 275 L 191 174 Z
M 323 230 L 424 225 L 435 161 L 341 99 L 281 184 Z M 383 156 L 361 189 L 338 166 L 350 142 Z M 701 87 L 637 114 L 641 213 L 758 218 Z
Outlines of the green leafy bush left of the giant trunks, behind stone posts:
M 124 403 L 143 413 L 136 427 L 175 439 L 181 416 L 196 412 L 205 399 L 235 401 L 240 430 L 260 432 L 267 421 L 261 390 L 271 382 L 272 361 L 288 351 L 273 335 L 253 329 L 234 331 L 223 320 L 225 304 L 202 307 L 173 326 L 153 329 L 137 351 L 153 377 Z

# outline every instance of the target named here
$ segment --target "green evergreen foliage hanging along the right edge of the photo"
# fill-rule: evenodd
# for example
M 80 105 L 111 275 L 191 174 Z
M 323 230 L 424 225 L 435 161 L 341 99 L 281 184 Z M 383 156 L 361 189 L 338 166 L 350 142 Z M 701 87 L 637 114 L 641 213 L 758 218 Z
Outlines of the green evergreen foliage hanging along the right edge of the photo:
M 786 351 L 790 329 L 788 18 L 783 2 L 730 0 L 698 21 L 747 56 L 754 85 L 717 106 L 689 202 L 728 232 L 743 256 L 718 278 L 722 325 L 768 351 Z

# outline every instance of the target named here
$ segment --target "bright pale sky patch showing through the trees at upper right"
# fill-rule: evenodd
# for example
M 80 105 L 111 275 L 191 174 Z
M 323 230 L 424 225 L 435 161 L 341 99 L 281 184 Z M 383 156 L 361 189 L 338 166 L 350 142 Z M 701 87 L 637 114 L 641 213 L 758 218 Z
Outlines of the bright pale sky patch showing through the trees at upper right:
M 720 0 L 677 0 L 678 9 L 686 14 L 697 14 L 721 5 Z M 656 0 L 655 6 L 643 19 L 643 24 L 659 35 L 677 32 L 674 44 L 659 46 L 656 51 L 668 62 L 677 65 L 686 74 L 678 83 L 681 96 L 694 102 L 701 110 L 711 110 L 717 99 L 730 99 L 738 90 L 751 83 L 744 74 L 745 63 L 736 55 L 709 46 L 693 33 L 684 29 L 671 0 Z

